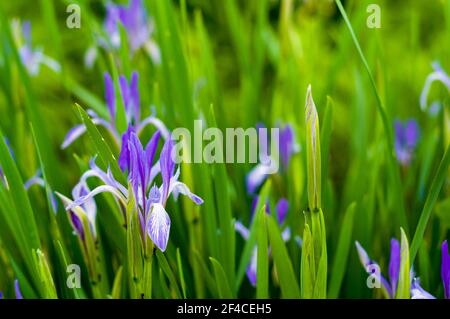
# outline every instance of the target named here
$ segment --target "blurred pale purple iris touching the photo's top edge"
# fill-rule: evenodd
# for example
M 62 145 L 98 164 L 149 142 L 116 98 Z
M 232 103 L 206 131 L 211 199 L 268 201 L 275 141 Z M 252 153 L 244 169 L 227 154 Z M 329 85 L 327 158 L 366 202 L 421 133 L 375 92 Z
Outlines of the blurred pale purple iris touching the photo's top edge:
M 130 0 L 128 7 L 109 3 L 106 6 L 105 32 L 109 39 L 100 43 L 106 48 L 117 49 L 121 45 L 119 24 L 127 34 L 131 52 L 144 48 L 156 64 L 160 63 L 159 47 L 151 39 L 153 33 L 152 20 L 147 17 L 141 0 Z

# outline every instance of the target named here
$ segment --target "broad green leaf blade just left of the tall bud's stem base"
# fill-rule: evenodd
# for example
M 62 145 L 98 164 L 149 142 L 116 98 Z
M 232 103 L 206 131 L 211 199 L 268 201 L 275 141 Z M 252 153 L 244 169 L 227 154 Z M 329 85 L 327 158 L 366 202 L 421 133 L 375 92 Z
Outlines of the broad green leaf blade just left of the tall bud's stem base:
M 266 222 L 271 252 L 280 280 L 281 295 L 283 298 L 300 298 L 300 290 L 297 279 L 295 278 L 292 262 L 284 245 L 278 225 L 271 216 L 266 217 Z

